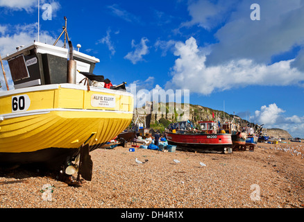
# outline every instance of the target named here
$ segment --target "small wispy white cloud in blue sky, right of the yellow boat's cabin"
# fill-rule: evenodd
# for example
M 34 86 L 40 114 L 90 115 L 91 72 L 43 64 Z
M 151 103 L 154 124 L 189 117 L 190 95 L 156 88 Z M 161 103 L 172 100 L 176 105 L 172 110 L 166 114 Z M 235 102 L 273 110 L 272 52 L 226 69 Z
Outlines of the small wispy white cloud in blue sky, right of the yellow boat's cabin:
M 146 37 L 142 37 L 139 44 L 135 44 L 135 40 L 132 40 L 131 45 L 134 51 L 130 51 L 124 58 L 130 60 L 133 64 L 144 60 L 142 56 L 149 53 L 149 46 L 146 45 L 149 40 Z

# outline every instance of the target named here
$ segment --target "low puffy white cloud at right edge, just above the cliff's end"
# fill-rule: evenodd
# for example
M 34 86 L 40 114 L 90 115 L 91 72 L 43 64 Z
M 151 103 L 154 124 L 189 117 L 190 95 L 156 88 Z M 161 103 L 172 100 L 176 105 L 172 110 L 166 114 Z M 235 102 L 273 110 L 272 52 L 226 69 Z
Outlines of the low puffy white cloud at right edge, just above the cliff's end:
M 255 123 L 264 124 L 264 128 L 281 128 L 287 130 L 293 137 L 303 137 L 304 116 L 283 116 L 285 110 L 278 108 L 276 103 L 263 105 L 255 115 L 250 118 Z

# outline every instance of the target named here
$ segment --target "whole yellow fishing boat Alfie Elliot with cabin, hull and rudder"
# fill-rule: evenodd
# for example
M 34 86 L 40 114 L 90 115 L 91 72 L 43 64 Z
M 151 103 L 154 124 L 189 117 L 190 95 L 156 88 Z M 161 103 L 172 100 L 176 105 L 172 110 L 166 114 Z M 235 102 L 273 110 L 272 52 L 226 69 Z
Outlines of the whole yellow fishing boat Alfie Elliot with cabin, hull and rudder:
M 0 92 L 0 164 L 37 162 L 69 180 L 77 170 L 78 180 L 91 180 L 89 152 L 130 124 L 133 94 L 94 87 L 96 81 L 83 74 L 92 73 L 99 60 L 71 44 L 68 50 L 34 42 L 3 60 L 15 89 Z

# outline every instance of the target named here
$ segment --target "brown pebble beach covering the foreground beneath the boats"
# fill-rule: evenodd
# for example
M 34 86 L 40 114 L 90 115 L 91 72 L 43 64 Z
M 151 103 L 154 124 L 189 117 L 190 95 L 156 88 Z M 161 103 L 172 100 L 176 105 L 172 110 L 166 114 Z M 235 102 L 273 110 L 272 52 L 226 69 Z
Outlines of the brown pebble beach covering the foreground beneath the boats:
M 130 147 L 92 151 L 92 181 L 81 187 L 39 169 L 0 171 L 0 207 L 304 207 L 302 143 L 258 143 L 253 152 L 230 154 Z

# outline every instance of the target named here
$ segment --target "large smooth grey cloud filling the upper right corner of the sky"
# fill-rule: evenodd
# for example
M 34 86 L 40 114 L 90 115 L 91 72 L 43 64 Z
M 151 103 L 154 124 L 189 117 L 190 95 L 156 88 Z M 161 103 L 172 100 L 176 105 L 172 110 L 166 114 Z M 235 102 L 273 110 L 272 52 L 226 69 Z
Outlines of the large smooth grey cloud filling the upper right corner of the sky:
M 260 21 L 251 20 L 252 2 L 246 0 L 189 0 L 188 11 L 192 18 L 180 28 L 199 26 L 210 30 L 217 43 L 211 45 L 205 65 L 220 65 L 230 60 L 253 60 L 270 64 L 273 56 L 304 46 L 304 1 L 257 0 L 260 5 Z M 178 28 L 178 30 L 180 29 Z M 292 62 L 292 67 L 304 71 L 304 53 Z M 274 61 L 276 62 L 276 61 Z

